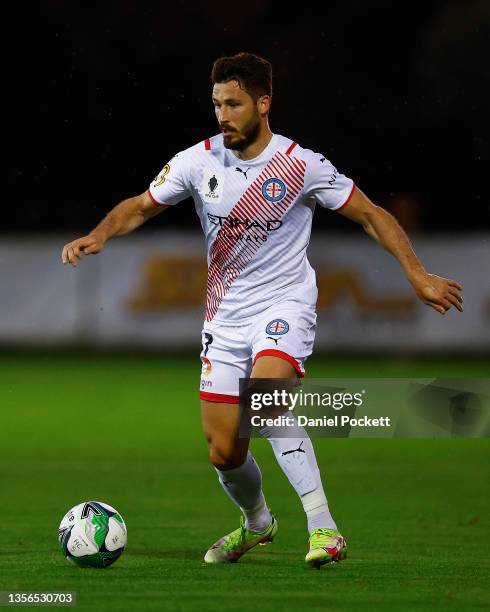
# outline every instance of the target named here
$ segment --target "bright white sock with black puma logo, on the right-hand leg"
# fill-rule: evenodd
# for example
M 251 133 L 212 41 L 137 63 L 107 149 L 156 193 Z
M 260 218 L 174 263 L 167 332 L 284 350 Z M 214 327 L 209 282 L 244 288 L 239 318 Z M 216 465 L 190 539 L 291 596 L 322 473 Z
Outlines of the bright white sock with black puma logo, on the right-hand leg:
M 277 437 L 285 432 L 290 437 Z M 337 529 L 328 508 L 315 451 L 306 430 L 297 424 L 294 430 L 290 427 L 286 430 L 281 427 L 264 427 L 260 435 L 271 443 L 282 471 L 299 495 L 306 512 L 308 531 L 311 533 L 318 527 Z

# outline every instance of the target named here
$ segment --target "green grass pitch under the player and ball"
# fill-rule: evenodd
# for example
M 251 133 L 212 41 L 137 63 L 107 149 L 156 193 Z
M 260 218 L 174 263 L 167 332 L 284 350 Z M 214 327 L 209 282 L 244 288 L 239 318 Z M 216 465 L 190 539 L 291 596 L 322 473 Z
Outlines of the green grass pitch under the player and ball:
M 327 376 L 488 376 L 488 361 L 326 359 Z M 0 590 L 74 590 L 78 610 L 487 610 L 488 440 L 315 441 L 342 563 L 304 566 L 301 505 L 266 441 L 254 440 L 275 542 L 206 566 L 238 512 L 207 462 L 199 360 L 0 358 Z M 58 549 L 71 506 L 106 501 L 128 547 L 105 570 Z

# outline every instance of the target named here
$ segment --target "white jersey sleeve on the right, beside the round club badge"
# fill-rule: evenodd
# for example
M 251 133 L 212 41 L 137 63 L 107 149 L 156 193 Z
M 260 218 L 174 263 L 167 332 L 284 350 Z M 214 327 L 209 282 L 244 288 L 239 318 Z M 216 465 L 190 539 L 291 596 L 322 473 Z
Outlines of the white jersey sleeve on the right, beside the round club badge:
M 303 159 L 306 161 L 305 196 L 330 210 L 347 204 L 354 191 L 354 181 L 338 172 L 320 153 L 304 150 Z

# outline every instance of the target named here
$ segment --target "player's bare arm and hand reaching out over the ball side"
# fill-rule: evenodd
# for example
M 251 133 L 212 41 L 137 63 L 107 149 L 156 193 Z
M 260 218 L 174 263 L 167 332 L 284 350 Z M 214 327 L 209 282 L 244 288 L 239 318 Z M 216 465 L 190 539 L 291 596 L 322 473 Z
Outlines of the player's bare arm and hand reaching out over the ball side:
M 166 205 L 156 204 L 147 191 L 133 198 L 123 200 L 87 236 L 77 238 L 65 244 L 61 253 L 64 264 L 70 263 L 74 268 L 83 255 L 99 253 L 104 244 L 116 236 L 129 234 L 148 219 L 155 217 Z

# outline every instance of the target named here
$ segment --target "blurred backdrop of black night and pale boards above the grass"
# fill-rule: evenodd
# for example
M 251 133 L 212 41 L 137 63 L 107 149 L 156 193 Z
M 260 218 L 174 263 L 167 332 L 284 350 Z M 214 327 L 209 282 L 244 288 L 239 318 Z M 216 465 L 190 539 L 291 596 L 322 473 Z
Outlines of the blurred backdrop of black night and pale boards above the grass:
M 191 201 L 76 271 L 61 246 L 216 133 L 209 73 L 247 49 L 274 67 L 273 131 L 323 152 L 464 285 L 465 312 L 417 303 L 397 264 L 317 210 L 317 353 L 488 354 L 488 2 L 39 2 L 11 20 L 0 346 L 199 348 L 204 249 Z M 251 34 L 253 34 L 251 36 Z M 22 38 L 28 44 L 18 44 Z

